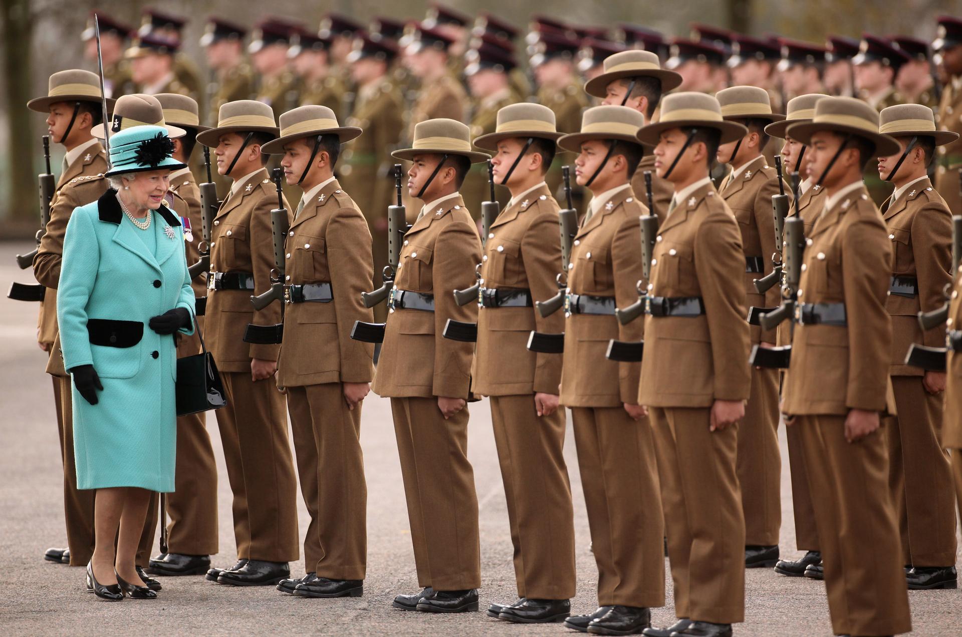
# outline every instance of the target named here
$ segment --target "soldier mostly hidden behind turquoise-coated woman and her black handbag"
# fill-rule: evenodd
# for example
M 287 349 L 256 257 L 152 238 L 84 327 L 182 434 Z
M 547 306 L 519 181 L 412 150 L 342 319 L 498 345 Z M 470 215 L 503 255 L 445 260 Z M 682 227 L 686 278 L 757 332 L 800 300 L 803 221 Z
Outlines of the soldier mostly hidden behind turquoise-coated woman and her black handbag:
M 157 100 L 164 107 L 165 121 L 187 131 L 183 138 L 174 139 L 173 158 L 190 164 L 190 155 L 197 143 L 197 134 L 208 130 L 201 126 L 197 102 L 176 93 L 160 93 Z M 197 248 L 201 241 L 200 191 L 190 167 L 170 173 L 170 192 L 167 205 L 185 218 L 184 239 L 187 263 L 192 266 L 200 259 Z M 181 212 L 186 204 L 187 212 Z M 197 298 L 207 294 L 203 274 L 190 282 Z M 193 335 L 181 336 L 177 344 L 178 358 L 200 353 L 198 332 L 204 328 L 204 318 L 194 318 L 198 330 Z M 156 575 L 200 575 L 211 568 L 211 555 L 217 552 L 217 467 L 214 447 L 207 433 L 204 412 L 177 417 L 177 466 L 173 493 L 167 494 L 167 551 L 150 560 L 148 573 Z

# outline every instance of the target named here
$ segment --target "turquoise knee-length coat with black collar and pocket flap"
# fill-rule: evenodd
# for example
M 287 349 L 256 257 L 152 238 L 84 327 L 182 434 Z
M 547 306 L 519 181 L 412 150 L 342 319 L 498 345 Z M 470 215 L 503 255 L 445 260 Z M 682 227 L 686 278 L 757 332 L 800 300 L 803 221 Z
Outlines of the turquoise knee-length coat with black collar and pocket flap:
M 138 236 L 147 232 L 155 254 Z M 96 405 L 73 387 L 79 489 L 174 490 L 177 350 L 147 322 L 175 307 L 193 315 L 179 217 L 162 206 L 139 230 L 114 190 L 73 211 L 57 291 L 63 366 L 93 365 L 104 386 Z

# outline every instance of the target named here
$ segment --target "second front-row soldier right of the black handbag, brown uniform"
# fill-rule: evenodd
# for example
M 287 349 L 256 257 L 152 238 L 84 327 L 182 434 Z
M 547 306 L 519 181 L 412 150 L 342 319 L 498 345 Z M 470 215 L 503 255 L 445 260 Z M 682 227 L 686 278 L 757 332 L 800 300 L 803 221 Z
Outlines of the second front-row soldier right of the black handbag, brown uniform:
M 278 590 L 305 598 L 360 597 L 367 570 L 367 484 L 361 407 L 374 374 L 373 346 L 350 338 L 370 322 L 361 293 L 373 275 L 370 233 L 334 177 L 341 145 L 361 129 L 339 126 L 325 106 L 281 115 L 288 184 L 304 194 L 286 238 L 284 344 L 277 386 L 288 395 L 301 493 L 311 515 L 305 575 Z M 283 231 L 283 229 L 282 229 Z M 275 229 L 277 232 L 277 229 Z

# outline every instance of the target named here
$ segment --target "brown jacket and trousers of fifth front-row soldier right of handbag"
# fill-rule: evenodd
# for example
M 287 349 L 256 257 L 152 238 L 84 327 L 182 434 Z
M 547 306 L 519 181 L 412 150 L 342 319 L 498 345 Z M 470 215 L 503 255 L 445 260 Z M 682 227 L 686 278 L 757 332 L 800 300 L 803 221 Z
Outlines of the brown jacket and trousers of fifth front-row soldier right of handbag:
M 571 247 L 572 294 L 638 300 L 642 278 L 638 217 L 647 208 L 630 185 L 587 217 Z M 598 605 L 665 605 L 664 522 L 648 419 L 633 420 L 641 365 L 605 358 L 612 339 L 641 341 L 644 323 L 571 313 L 565 321 L 561 404 L 571 409 L 578 468 L 588 507 Z

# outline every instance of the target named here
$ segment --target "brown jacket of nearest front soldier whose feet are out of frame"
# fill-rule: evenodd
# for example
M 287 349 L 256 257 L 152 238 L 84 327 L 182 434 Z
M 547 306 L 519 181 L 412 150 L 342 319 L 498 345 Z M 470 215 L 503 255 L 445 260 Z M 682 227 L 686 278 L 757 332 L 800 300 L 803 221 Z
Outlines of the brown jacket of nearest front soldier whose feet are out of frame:
M 795 326 L 784 413 L 846 416 L 850 409 L 892 407 L 892 324 L 885 312 L 892 271 L 888 235 L 864 188 L 848 192 L 815 222 L 798 302 L 844 303 L 848 325 Z

